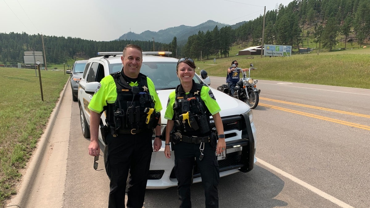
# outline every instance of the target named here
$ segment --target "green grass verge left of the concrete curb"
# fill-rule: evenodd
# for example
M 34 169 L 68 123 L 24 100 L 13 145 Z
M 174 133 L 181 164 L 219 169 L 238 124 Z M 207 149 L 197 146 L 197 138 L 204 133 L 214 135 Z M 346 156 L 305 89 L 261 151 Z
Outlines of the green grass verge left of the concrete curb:
M 0 68 L 0 207 L 16 193 L 19 170 L 43 134 L 68 77 L 63 71 L 41 71 L 42 101 L 35 70 Z

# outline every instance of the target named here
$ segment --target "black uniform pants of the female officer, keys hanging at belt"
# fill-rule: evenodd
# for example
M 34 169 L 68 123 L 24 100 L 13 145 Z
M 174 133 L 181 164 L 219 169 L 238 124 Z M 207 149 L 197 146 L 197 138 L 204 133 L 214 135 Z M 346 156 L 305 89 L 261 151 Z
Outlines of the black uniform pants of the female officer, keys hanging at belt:
M 218 208 L 218 182 L 220 179 L 216 149 L 209 143 L 205 143 L 203 160 L 199 160 L 201 154 L 200 144 L 180 142 L 174 145 L 175 171 L 177 178 L 177 192 L 180 208 L 190 208 L 190 185 L 193 177 L 194 158 L 201 172 L 202 185 L 205 195 L 206 208 Z

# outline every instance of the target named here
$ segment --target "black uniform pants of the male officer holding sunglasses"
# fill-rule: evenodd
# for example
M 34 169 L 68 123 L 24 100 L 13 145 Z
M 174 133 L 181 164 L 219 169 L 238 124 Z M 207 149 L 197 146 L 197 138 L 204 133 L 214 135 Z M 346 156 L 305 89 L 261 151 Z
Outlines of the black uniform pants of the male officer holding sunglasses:
M 125 189 L 130 171 L 127 207 L 142 208 L 153 152 L 152 130 L 139 134 L 119 134 L 117 137 L 108 135 L 107 142 L 105 170 L 110 178 L 108 207 L 125 207 Z

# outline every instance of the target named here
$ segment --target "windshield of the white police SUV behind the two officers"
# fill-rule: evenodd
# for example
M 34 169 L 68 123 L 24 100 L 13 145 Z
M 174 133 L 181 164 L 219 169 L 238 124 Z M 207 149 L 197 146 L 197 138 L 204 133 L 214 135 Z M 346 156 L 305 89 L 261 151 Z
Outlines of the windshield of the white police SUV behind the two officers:
M 176 65 L 177 62 L 143 62 L 140 72 L 153 81 L 156 90 L 175 89 L 180 84 Z M 110 64 L 109 68 L 111 73 L 114 73 L 121 70 L 122 64 Z M 203 84 L 196 74 L 193 80 L 195 83 Z

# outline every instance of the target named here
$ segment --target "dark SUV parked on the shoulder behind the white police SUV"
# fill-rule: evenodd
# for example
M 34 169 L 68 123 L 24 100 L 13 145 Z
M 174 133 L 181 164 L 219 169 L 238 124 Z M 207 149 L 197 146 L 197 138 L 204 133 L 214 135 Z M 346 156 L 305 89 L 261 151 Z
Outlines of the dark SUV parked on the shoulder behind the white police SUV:
M 72 88 L 72 100 L 77 101 L 78 95 L 78 83 L 84 73 L 85 65 L 87 60 L 75 61 L 72 70 L 67 70 L 65 73 L 71 74 L 71 88 Z

